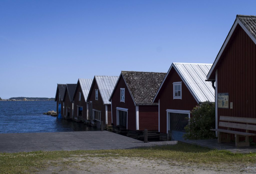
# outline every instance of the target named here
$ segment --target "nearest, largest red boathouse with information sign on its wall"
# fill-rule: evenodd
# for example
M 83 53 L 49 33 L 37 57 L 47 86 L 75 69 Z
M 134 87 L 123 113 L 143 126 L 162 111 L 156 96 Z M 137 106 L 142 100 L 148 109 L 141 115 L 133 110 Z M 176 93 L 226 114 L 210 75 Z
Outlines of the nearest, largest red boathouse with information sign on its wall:
M 216 129 L 227 129 L 227 127 L 219 126 L 220 116 L 233 117 L 236 122 L 240 120 L 243 123 L 246 123 L 244 121 L 248 119 L 252 121 L 251 118 L 256 118 L 255 67 L 256 16 L 237 15 L 207 75 L 208 80 L 216 81 Z M 226 98 L 224 104 L 222 104 L 221 96 Z M 249 129 L 249 131 L 246 131 L 247 128 L 239 129 L 237 126 L 242 124 L 235 124 L 228 130 L 256 133 L 252 129 Z M 249 127 L 250 125 L 253 127 L 255 124 L 250 122 L 243 127 Z M 252 136 L 252 138 L 256 142 L 256 137 Z M 234 134 L 231 134 L 232 139 L 235 139 Z M 244 138 L 240 140 L 244 140 Z

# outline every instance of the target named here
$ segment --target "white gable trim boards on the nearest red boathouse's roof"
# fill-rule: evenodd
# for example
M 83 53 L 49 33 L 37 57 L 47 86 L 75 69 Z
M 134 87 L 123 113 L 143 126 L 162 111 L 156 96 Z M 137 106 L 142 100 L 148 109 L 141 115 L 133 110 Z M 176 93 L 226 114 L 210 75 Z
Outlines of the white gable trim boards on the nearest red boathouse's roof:
M 243 23 L 240 21 L 240 19 L 237 17 L 237 18 L 236 18 L 236 21 L 234 22 L 232 28 L 230 29 L 230 31 L 229 31 L 229 33 L 228 33 L 228 36 L 227 36 L 226 40 L 224 41 L 223 45 L 221 46 L 221 49 L 220 49 L 220 51 L 219 51 L 219 53 L 218 53 L 218 55 L 217 55 L 217 57 L 216 57 L 216 59 L 215 59 L 213 65 L 212 65 L 212 67 L 211 67 L 211 69 L 210 69 L 208 75 L 206 76 L 207 80 L 209 80 L 209 78 L 210 78 L 210 76 L 211 76 L 211 74 L 212 74 L 212 72 L 213 72 L 213 70 L 214 70 L 216 64 L 218 63 L 218 61 L 219 61 L 219 59 L 220 59 L 220 57 L 221 57 L 223 51 L 225 50 L 225 48 L 226 48 L 226 46 L 227 46 L 227 44 L 228 44 L 228 42 L 229 42 L 230 37 L 232 36 L 232 34 L 233 34 L 233 32 L 234 32 L 234 30 L 235 30 L 235 28 L 236 28 L 236 26 L 237 26 L 238 24 L 242 27 L 242 29 L 246 32 L 246 34 L 248 34 L 248 36 L 249 36 L 249 37 L 252 39 L 252 41 L 256 44 L 256 39 L 255 39 L 255 37 L 253 37 L 253 35 L 250 33 L 250 31 L 244 26 L 244 24 L 243 24 Z

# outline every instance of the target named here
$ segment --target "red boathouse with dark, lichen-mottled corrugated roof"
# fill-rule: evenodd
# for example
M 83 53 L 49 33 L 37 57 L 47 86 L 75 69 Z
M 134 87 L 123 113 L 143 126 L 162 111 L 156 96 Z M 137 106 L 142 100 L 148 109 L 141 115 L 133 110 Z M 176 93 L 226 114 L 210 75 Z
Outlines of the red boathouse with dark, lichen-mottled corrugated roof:
M 156 138 L 158 104 L 152 100 L 166 73 L 122 71 L 110 96 L 113 131 L 143 139 L 143 130 Z

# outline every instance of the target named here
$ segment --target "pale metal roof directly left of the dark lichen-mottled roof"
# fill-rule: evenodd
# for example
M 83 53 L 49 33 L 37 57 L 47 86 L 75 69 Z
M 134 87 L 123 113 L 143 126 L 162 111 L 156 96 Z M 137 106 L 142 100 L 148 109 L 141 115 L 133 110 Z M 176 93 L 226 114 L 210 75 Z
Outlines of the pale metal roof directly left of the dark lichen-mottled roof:
M 94 76 L 92 84 L 97 83 L 103 104 L 111 104 L 109 97 L 113 92 L 118 77 L 119 76 Z M 90 96 L 92 88 L 93 85 L 91 86 L 88 96 Z M 87 98 L 87 102 L 89 102 L 89 97 Z

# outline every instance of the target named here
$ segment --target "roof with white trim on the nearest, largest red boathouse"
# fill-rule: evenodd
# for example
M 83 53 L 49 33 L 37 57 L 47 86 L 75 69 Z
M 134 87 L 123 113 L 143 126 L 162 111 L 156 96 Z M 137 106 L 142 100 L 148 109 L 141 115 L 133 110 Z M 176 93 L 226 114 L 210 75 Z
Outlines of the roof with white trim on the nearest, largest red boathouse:
M 215 79 L 215 67 L 222 55 L 222 52 L 226 48 L 228 41 L 230 37 L 232 36 L 235 28 L 237 25 L 240 25 L 242 29 L 248 34 L 248 36 L 252 39 L 252 41 L 256 44 L 256 16 L 250 16 L 250 15 L 237 15 L 236 20 L 234 21 L 234 24 L 232 25 L 232 28 L 230 29 L 228 36 L 226 37 L 223 45 L 220 48 L 220 51 L 207 75 L 207 79 Z

